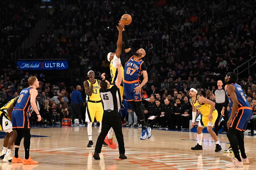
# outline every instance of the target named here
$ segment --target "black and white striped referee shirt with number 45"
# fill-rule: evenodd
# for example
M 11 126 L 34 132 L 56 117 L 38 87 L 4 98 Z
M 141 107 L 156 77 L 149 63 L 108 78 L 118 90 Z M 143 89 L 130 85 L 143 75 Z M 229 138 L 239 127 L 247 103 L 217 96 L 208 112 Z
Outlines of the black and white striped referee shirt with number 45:
M 119 112 L 121 107 L 120 91 L 116 84 L 110 85 L 109 89 L 100 88 L 100 97 L 103 101 L 104 110 L 114 110 Z

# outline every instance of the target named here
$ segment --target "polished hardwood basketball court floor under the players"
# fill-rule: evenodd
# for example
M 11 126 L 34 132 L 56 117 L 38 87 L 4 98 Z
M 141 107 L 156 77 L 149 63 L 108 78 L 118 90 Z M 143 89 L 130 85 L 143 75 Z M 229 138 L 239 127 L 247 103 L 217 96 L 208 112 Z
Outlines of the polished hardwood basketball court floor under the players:
M 94 146 L 98 137 L 99 127 L 92 127 Z M 95 170 L 126 170 L 126 169 L 226 169 L 225 164 L 233 159 L 232 154 L 214 152 L 215 143 L 210 134 L 203 134 L 203 150 L 192 151 L 190 148 L 197 143 L 194 132 L 154 130 L 152 137 L 140 140 L 140 129 L 123 128 L 125 155 L 127 159 L 119 159 L 116 150 L 103 146 L 100 160 L 94 160 L 94 147 L 87 148 L 86 127 L 60 127 L 31 129 L 30 155 L 38 161 L 38 165 L 23 165 L 22 163 L 4 163 L 0 161 L 3 170 L 47 170 L 47 169 L 95 169 Z M 4 133 L 1 134 L 2 137 Z M 219 135 L 222 150 L 229 146 L 226 135 Z M 115 137 L 114 137 L 115 138 Z M 249 165 L 237 169 L 256 169 L 256 138 L 245 135 L 245 152 L 250 160 Z M 3 144 L 3 139 L 1 144 Z M 114 139 L 116 142 L 116 139 Z M 118 146 L 118 145 L 117 145 Z M 142 147 L 140 147 L 142 146 Z M 13 151 L 12 151 L 13 153 Z M 24 157 L 23 140 L 19 155 Z M 227 168 L 228 169 L 228 168 Z M 236 168 L 230 168 L 236 169 Z

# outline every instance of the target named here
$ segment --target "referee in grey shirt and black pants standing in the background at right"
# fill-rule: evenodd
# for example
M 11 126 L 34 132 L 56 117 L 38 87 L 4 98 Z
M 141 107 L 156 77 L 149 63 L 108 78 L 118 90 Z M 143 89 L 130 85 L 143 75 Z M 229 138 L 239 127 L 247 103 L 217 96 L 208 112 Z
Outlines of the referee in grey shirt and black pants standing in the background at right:
M 218 111 L 218 117 L 217 117 L 217 119 L 215 121 L 215 124 L 214 124 L 214 132 L 218 136 L 219 121 L 220 121 L 220 116 L 221 116 L 221 110 L 222 110 L 222 107 L 223 107 L 223 104 L 224 104 L 225 98 L 226 98 L 226 92 L 225 92 L 225 89 L 222 88 L 223 82 L 221 80 L 218 80 L 217 85 L 218 85 L 218 89 L 215 89 L 213 91 L 213 98 L 216 101 L 215 108 Z M 225 130 L 226 126 L 227 126 L 227 121 L 228 121 L 227 120 L 228 115 L 227 115 L 227 110 L 226 109 L 225 109 L 224 115 L 225 116 L 224 116 L 223 127 L 224 127 L 224 130 Z M 223 130 L 223 132 L 224 132 L 224 130 Z

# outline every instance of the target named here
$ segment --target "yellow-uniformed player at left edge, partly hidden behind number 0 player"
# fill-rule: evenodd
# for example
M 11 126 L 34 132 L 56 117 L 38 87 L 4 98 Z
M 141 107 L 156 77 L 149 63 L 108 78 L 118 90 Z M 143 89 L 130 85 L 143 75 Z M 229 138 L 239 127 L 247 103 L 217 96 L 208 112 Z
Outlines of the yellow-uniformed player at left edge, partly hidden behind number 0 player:
M 3 159 L 4 162 L 12 162 L 11 152 L 13 143 L 17 137 L 16 130 L 12 130 L 12 110 L 16 104 L 18 97 L 10 100 L 2 108 L 0 108 L 0 130 L 4 130 L 4 132 L 6 132 L 6 136 L 4 137 L 3 149 L 0 154 L 0 159 Z M 22 162 L 21 159 L 20 161 Z

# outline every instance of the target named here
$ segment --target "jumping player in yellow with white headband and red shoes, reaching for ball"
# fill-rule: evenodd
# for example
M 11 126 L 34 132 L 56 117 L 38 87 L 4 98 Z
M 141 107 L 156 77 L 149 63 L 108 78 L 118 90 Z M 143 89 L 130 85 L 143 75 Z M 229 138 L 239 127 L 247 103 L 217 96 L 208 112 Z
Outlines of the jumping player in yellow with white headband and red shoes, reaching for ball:
M 111 75 L 111 84 L 110 84 L 110 88 L 115 85 L 115 83 L 117 82 L 117 74 L 118 74 L 118 71 L 117 71 L 117 66 L 116 64 L 117 63 L 121 63 L 121 60 L 120 60 L 120 55 L 121 55 L 121 52 L 122 52 L 122 45 L 123 45 L 123 28 L 124 28 L 124 25 L 121 24 L 119 22 L 119 26 L 116 26 L 117 30 L 118 30 L 118 39 L 117 39 L 117 43 L 116 43 L 116 53 L 108 53 L 107 56 L 106 56 L 106 60 L 105 62 L 102 64 L 103 67 L 108 67 L 109 65 L 109 69 L 110 69 L 110 75 Z M 120 103 L 122 103 L 123 101 L 123 94 L 124 94 L 124 67 L 122 66 L 121 64 L 121 72 L 122 72 L 122 82 L 119 86 L 119 91 L 118 91 L 118 95 L 119 95 L 119 100 L 120 100 Z M 103 77 L 103 79 L 105 79 Z M 108 131 L 108 135 L 106 136 L 104 142 L 106 144 L 108 144 L 108 146 L 112 149 L 116 149 L 116 143 L 113 141 L 113 129 L 112 127 L 109 129 Z

